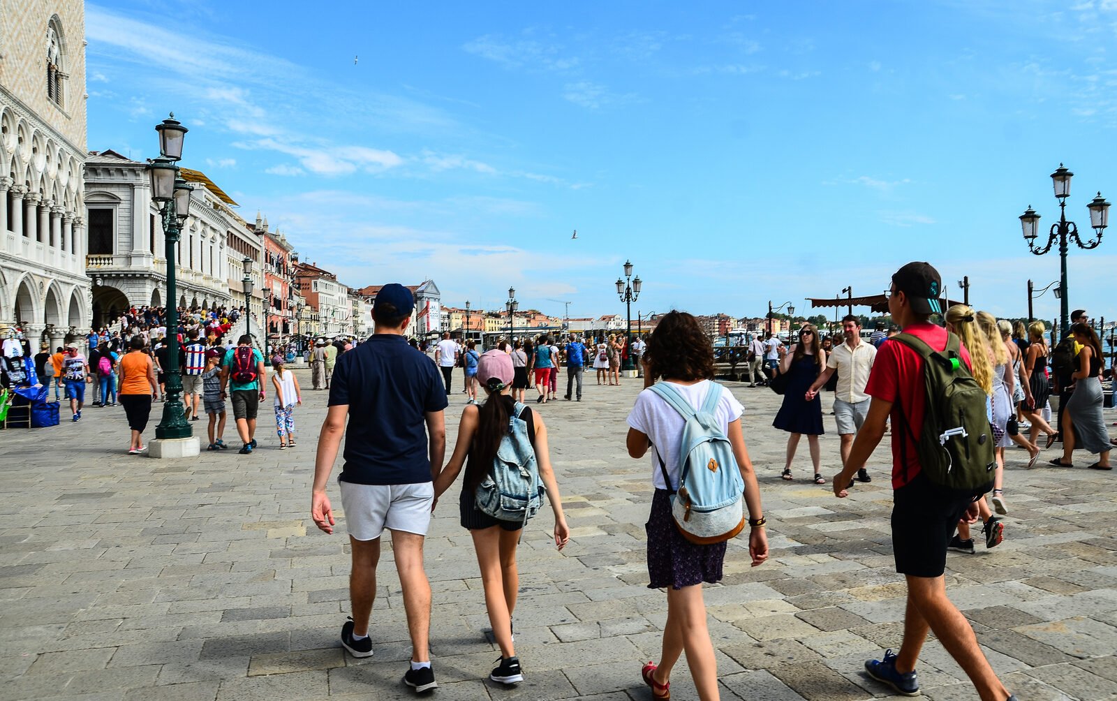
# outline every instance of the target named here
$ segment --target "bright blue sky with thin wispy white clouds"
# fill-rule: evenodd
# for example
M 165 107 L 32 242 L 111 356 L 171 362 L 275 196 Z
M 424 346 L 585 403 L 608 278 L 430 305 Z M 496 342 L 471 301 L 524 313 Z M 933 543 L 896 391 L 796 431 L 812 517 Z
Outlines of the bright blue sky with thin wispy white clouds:
M 184 165 L 355 287 L 580 317 L 631 259 L 633 317 L 744 316 L 917 259 L 1023 316 L 1048 175 L 1085 231 L 1117 198 L 1117 0 L 261 7 L 88 3 L 89 148 L 154 155 L 174 111 Z M 1114 237 L 1072 248 L 1072 307 L 1117 317 Z

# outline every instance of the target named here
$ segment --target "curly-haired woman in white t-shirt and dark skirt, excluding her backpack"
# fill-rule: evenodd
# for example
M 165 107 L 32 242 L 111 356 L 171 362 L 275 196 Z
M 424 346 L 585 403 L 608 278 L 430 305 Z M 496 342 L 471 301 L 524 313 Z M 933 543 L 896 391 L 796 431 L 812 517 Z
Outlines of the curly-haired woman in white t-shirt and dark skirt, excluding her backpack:
M 745 483 L 748 554 L 755 567 L 767 559 L 768 545 L 760 488 L 741 428 L 744 409 L 732 393 L 714 382 L 714 348 L 698 321 L 689 314 L 670 311 L 659 317 L 659 324 L 648 339 L 643 362 L 645 390 L 637 395 L 628 415 L 626 446 L 628 454 L 634 459 L 642 458 L 648 454 L 649 448 L 652 449 L 650 468 L 655 496 L 645 526 L 648 536 L 648 588 L 667 590 L 667 622 L 659 662 L 643 665 L 641 676 L 651 688 L 653 699 L 669 699 L 671 671 L 686 652 L 698 698 L 703 701 L 717 700 L 717 661 L 706 623 L 701 585 L 722 579 L 726 542 L 697 545 L 684 538 L 675 525 L 669 490 L 679 480 L 679 451 L 686 422 L 678 411 L 649 387 L 657 381 L 668 383 L 696 411 L 703 406 L 708 393 L 720 393 L 714 419 L 729 439 Z M 663 479 L 665 471 L 670 483 Z

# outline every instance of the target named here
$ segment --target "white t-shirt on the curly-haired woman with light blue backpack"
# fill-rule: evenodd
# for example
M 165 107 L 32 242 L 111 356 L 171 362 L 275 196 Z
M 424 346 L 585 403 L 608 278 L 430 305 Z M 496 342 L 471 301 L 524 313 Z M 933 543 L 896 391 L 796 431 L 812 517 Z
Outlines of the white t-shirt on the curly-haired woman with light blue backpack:
M 712 384 L 709 380 L 693 385 L 670 383 L 671 387 L 678 390 L 695 410 L 701 406 Z M 745 407 L 737 397 L 722 387 L 722 398 L 714 412 L 722 430 L 728 431 L 729 423 L 741 419 L 744 411 Z M 643 390 L 636 397 L 636 404 L 632 405 L 628 416 L 628 424 L 651 439 L 652 448 L 648 449 L 648 457 L 651 460 L 651 483 L 656 489 L 668 489 L 663 483 L 663 472 L 659 468 L 657 451 L 667 465 L 667 473 L 671 477 L 672 483 L 678 482 L 679 445 L 682 443 L 682 426 L 686 424 L 679 412 L 651 390 Z

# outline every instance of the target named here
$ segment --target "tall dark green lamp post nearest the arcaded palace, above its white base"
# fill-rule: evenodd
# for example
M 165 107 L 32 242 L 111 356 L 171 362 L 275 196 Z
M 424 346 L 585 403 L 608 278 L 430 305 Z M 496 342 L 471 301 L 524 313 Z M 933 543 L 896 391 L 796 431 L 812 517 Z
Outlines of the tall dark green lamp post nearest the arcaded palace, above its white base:
M 156 439 L 188 439 L 193 435 L 190 422 L 182 407 L 182 371 L 179 368 L 179 308 L 176 289 L 175 251 L 182 223 L 190 213 L 190 191 L 192 188 L 179 176 L 179 161 L 182 160 L 182 141 L 187 127 L 174 119 L 174 113 L 162 124 L 159 132 L 159 157 L 147 162 L 151 176 L 151 199 L 160 205 L 163 218 L 163 238 L 166 244 L 166 328 L 170 338 L 166 345 L 166 403 L 163 417 L 155 426 Z

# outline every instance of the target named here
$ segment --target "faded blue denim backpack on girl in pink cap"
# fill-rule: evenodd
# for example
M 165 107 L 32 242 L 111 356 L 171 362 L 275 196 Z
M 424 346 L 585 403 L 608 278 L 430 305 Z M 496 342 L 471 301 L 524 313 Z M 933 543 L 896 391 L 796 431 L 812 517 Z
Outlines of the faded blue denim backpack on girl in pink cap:
M 499 401 L 489 397 L 489 402 Z M 500 439 L 493 469 L 475 492 L 477 508 L 503 521 L 521 521 L 535 516 L 543 506 L 546 489 L 540 480 L 535 449 L 527 435 L 527 422 L 519 417 L 526 409 L 516 402 L 508 416 L 508 432 Z

